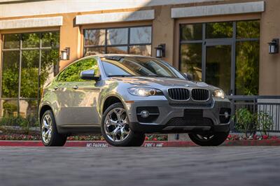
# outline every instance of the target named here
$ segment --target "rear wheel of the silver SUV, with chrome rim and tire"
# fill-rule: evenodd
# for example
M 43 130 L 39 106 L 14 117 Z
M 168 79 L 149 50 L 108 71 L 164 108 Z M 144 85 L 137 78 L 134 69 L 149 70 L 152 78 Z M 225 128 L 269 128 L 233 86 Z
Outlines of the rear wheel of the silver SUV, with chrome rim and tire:
M 45 146 L 63 146 L 66 143 L 67 136 L 58 134 L 51 110 L 45 111 L 41 119 L 41 138 Z

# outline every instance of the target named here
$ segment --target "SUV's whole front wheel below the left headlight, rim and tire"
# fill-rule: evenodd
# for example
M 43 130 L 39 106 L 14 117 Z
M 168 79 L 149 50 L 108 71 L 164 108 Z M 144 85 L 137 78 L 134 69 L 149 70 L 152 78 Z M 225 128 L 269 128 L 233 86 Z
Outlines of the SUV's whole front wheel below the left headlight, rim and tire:
M 122 103 L 115 103 L 106 109 L 102 117 L 102 135 L 113 146 L 141 146 L 145 135 L 130 129 L 127 112 Z

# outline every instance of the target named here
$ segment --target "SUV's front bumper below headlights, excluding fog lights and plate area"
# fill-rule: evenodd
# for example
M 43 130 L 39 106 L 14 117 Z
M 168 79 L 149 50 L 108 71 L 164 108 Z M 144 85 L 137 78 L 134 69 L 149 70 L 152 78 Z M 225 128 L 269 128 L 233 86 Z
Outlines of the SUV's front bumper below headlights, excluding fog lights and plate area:
M 139 108 L 157 107 L 159 115 L 153 122 L 139 121 Z M 138 110 L 137 110 L 138 108 Z M 203 122 L 183 122 L 186 109 L 202 112 Z M 168 100 L 143 100 L 127 103 L 130 128 L 144 133 L 188 133 L 200 131 L 229 131 L 230 119 L 221 120 L 221 109 L 230 110 L 228 99 L 213 98 L 210 102 L 170 103 Z M 138 113 L 138 115 L 137 115 Z M 177 122 L 178 121 L 178 122 Z M 225 123 L 223 123 L 225 122 Z

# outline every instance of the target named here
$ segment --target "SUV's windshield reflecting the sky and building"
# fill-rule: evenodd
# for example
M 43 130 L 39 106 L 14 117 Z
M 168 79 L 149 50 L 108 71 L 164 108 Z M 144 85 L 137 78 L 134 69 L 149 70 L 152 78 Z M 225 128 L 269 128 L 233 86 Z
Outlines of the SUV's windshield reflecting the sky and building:
M 104 57 L 102 65 L 107 76 L 155 76 L 181 78 L 183 75 L 167 62 L 150 57 Z

